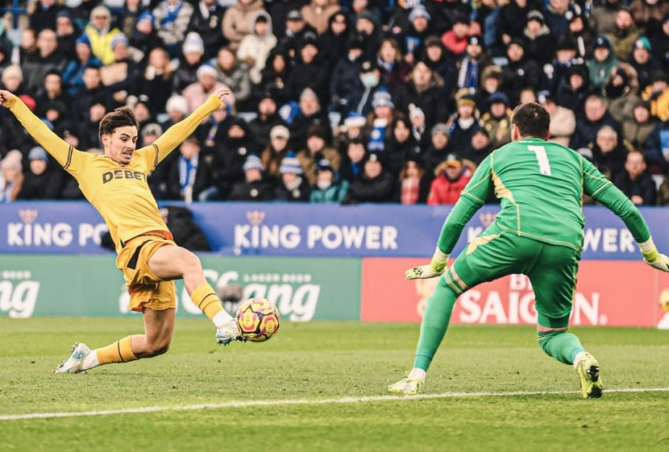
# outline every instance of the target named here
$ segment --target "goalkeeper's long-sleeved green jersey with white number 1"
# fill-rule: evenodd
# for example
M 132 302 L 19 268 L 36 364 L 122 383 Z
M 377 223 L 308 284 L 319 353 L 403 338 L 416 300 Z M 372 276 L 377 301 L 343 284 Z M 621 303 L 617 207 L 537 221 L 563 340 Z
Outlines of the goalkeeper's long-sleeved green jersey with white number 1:
M 452 251 L 491 190 L 500 198 L 495 226 L 502 231 L 581 250 L 582 197 L 587 193 L 622 218 L 637 242 L 650 237 L 632 201 L 590 161 L 560 144 L 524 138 L 491 152 L 476 168 L 444 222 L 441 251 Z

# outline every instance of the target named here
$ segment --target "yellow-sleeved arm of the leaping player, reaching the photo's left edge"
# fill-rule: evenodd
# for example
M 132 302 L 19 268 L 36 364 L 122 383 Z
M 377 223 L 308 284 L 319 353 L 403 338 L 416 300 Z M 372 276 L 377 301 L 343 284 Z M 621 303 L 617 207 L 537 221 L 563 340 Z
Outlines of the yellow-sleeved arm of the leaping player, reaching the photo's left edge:
M 68 160 L 70 144 L 65 143 L 59 136 L 55 135 L 41 119 L 37 118 L 21 99 L 12 95 L 9 91 L 0 90 L 0 106 L 12 111 L 19 119 L 21 125 L 28 130 L 30 136 L 35 138 L 38 144 L 45 148 L 54 159 L 64 166 Z

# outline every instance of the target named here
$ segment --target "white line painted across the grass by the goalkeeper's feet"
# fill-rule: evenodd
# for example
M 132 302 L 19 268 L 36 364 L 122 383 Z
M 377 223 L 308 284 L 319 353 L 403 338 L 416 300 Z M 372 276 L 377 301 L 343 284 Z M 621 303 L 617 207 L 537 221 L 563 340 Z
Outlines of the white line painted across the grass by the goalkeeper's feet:
M 605 390 L 605 393 L 615 392 L 669 392 L 669 388 L 619 388 Z M 245 408 L 245 407 L 274 407 L 285 405 L 335 405 L 368 402 L 387 402 L 397 400 L 418 399 L 467 399 L 478 397 L 523 397 L 523 396 L 546 396 L 575 394 L 574 390 L 554 391 L 527 391 L 518 390 L 514 392 L 442 392 L 441 394 L 418 394 L 415 396 L 369 396 L 369 397 L 343 397 L 341 399 L 279 399 L 279 400 L 230 400 L 220 403 L 203 403 L 199 405 L 175 405 L 159 407 L 136 407 L 103 409 L 95 411 L 74 411 L 59 413 L 26 413 L 24 415 L 0 415 L 0 421 L 19 421 L 23 419 L 49 419 L 54 417 L 84 417 L 103 415 L 134 415 L 143 413 L 158 413 L 161 411 L 194 411 L 200 409 L 220 408 Z

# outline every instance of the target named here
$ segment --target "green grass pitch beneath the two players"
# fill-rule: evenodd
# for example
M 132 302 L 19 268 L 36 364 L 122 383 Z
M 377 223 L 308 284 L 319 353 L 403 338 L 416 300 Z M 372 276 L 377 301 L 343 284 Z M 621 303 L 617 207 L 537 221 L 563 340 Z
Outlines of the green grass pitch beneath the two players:
M 166 355 L 51 374 L 74 341 L 141 331 L 139 317 L 0 318 L 0 450 L 669 449 L 667 331 L 574 329 L 602 366 L 595 400 L 527 326 L 451 326 L 419 399 L 385 392 L 418 325 L 284 322 L 223 348 L 206 320 L 178 320 Z M 73 412 L 88 415 L 60 417 Z

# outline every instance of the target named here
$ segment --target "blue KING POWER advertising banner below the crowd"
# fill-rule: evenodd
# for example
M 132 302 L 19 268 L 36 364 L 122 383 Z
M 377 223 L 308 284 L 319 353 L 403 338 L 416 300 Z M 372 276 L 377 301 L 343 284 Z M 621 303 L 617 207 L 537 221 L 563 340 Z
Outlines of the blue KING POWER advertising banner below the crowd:
M 167 203 L 166 203 L 167 205 Z M 183 205 L 183 204 L 181 204 Z M 288 203 L 194 203 L 187 206 L 214 252 L 239 256 L 430 256 L 450 206 Z M 499 210 L 484 206 L 467 224 L 454 254 L 489 226 Z M 583 259 L 639 259 L 632 234 L 603 207 L 585 207 Z M 661 250 L 669 209 L 641 208 Z M 546 218 L 559 221 L 559 218 Z M 0 205 L 0 253 L 96 254 L 106 226 L 81 202 Z

